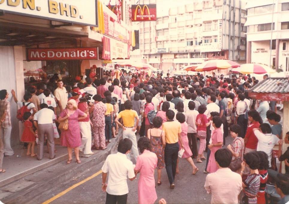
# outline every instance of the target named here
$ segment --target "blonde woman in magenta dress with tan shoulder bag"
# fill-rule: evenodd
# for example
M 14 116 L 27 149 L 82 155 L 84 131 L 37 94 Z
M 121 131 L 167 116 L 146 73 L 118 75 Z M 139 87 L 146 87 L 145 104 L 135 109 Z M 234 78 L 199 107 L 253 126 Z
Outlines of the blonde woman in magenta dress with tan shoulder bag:
M 62 122 L 68 119 L 68 129 L 61 130 L 61 140 L 60 143 L 62 146 L 67 146 L 68 151 L 68 160 L 67 164 L 70 164 L 72 160 L 72 149 L 74 149 L 76 163 L 81 163 L 79 159 L 79 146 L 81 145 L 81 136 L 78 120 L 85 119 L 87 114 L 82 112 L 77 108 L 76 101 L 70 99 L 67 102 L 67 108 L 65 108 L 58 118 L 59 122 Z

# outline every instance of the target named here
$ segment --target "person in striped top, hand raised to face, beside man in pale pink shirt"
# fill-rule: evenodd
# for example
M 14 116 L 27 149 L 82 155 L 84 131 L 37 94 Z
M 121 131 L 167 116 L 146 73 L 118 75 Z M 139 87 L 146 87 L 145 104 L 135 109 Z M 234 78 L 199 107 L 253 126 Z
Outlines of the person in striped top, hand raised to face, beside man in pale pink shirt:
M 250 174 L 242 184 L 244 196 L 241 204 L 257 204 L 257 194 L 260 188 L 260 174 L 258 171 L 260 158 L 258 153 L 249 152 L 244 155 L 244 161 L 241 164 L 241 176 L 243 176 L 245 165 L 250 168 Z

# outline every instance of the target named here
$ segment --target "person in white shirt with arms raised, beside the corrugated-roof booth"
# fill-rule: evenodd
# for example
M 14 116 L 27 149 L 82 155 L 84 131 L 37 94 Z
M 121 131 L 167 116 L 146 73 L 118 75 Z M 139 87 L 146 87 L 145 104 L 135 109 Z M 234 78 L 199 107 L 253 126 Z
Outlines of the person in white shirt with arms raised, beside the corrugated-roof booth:
M 262 123 L 260 129 L 261 132 L 258 128 L 253 129 L 258 138 L 257 151 L 263 151 L 268 155 L 269 167 L 271 167 L 273 147 L 278 145 L 280 139 L 271 133 L 272 129 L 268 123 Z

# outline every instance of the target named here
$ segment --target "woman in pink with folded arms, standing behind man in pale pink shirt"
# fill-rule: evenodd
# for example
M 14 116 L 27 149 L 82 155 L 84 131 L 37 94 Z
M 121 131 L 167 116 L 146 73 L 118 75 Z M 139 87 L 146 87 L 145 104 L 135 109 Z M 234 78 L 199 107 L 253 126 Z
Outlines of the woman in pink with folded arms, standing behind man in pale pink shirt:
M 211 150 L 211 154 L 209 157 L 207 171 L 210 173 L 214 173 L 218 170 L 215 160 L 215 153 L 223 146 L 223 133 L 220 128 L 222 125 L 222 119 L 219 116 L 214 116 L 212 121 L 212 126 L 215 129 L 212 132 L 212 143 L 208 145 L 208 148 Z

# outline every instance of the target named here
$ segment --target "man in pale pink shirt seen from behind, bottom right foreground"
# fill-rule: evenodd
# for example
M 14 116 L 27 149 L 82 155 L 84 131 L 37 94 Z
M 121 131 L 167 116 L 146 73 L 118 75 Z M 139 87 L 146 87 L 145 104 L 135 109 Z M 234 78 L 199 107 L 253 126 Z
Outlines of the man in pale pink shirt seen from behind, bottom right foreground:
M 206 177 L 205 189 L 212 194 L 211 204 L 238 203 L 242 191 L 242 177 L 229 169 L 232 153 L 228 149 L 218 149 L 215 160 L 219 169 Z

